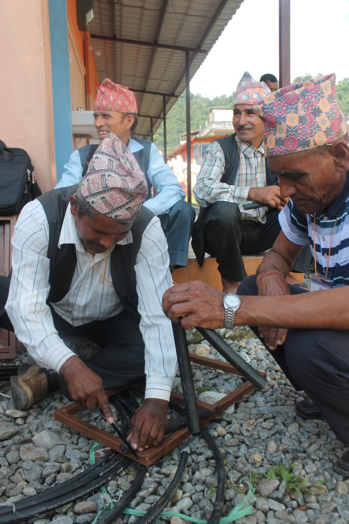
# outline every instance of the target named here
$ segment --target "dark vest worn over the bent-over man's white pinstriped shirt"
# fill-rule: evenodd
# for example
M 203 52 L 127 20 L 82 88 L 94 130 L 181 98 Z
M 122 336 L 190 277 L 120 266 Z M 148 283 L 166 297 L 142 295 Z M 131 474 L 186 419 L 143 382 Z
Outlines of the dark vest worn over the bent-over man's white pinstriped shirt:
M 70 196 L 74 194 L 77 185 L 61 189 L 53 189 L 39 196 L 49 223 L 49 245 L 47 257 L 50 259 L 48 304 L 58 302 L 69 291 L 76 266 L 76 250 L 74 244 L 64 244 L 58 248 L 64 215 Z M 132 243 L 116 244 L 110 254 L 111 280 L 114 289 L 133 318 L 139 320 L 137 310 L 138 295 L 136 289 L 136 273 L 134 265 L 142 242 L 145 227 L 153 218 L 154 213 L 141 206 L 137 219 L 131 227 Z

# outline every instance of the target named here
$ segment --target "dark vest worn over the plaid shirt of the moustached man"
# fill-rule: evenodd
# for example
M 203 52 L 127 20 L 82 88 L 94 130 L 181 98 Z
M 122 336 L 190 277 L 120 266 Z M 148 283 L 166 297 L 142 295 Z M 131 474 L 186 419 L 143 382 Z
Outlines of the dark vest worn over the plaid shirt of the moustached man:
M 240 163 L 239 148 L 235 136 L 236 133 L 233 133 L 227 137 L 213 140 L 218 142 L 224 154 L 225 166 L 220 182 L 229 185 L 234 185 Z M 265 172 L 267 185 L 278 185 L 277 177 L 272 178 L 267 162 L 265 162 Z M 204 264 L 205 259 L 204 218 L 208 208 L 209 206 L 206 206 L 206 208 L 200 206 L 199 216 L 193 228 L 192 247 L 200 267 Z

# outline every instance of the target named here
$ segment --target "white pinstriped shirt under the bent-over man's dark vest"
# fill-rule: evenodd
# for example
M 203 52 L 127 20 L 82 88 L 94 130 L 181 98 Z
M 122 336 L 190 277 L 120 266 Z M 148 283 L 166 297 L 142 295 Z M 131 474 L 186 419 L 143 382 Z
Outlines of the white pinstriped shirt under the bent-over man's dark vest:
M 74 353 L 64 344 L 54 328 L 46 304 L 50 290 L 47 258 L 49 225 L 39 201 L 28 203 L 19 215 L 12 239 L 13 275 L 6 303 L 18 339 L 28 353 L 44 367 L 59 372 Z M 128 233 L 120 243 L 132 242 Z M 65 213 L 59 245 L 73 243 L 77 263 L 69 292 L 53 304 L 55 311 L 73 326 L 117 315 L 123 309 L 114 287 L 103 283 L 91 257 L 77 234 L 70 204 Z M 111 280 L 108 249 L 105 278 Z M 94 263 L 104 275 L 105 255 L 96 254 Z M 161 308 L 165 290 L 172 286 L 168 270 L 166 238 L 155 216 L 143 233 L 136 258 L 136 280 L 141 315 L 140 330 L 145 344 L 145 398 L 168 400 L 176 373 L 176 351 L 172 326 Z

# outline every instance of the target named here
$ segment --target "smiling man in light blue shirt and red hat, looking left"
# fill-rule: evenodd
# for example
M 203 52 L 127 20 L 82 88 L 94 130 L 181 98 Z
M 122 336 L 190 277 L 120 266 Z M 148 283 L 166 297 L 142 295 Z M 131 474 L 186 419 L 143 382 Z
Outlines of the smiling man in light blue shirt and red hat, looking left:
M 156 146 L 148 140 L 131 136 L 138 123 L 133 91 L 106 78 L 99 86 L 93 108 L 99 141 L 108 133 L 114 133 L 133 153 L 147 179 L 148 194 L 144 205 L 159 216 L 167 240 L 170 269 L 186 266 L 195 211 L 184 201 L 181 185 Z M 80 182 L 96 148 L 96 145 L 89 145 L 74 151 L 56 188 Z M 157 193 L 154 198 L 151 198 L 152 188 Z

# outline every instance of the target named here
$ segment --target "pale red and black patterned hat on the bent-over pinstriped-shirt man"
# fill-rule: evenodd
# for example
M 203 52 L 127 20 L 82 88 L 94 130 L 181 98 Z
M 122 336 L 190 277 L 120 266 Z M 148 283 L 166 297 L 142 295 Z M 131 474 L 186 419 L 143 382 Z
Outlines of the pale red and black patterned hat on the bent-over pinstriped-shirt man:
M 98 146 L 81 182 L 92 207 L 115 220 L 135 218 L 148 194 L 144 174 L 131 151 L 112 133 Z

